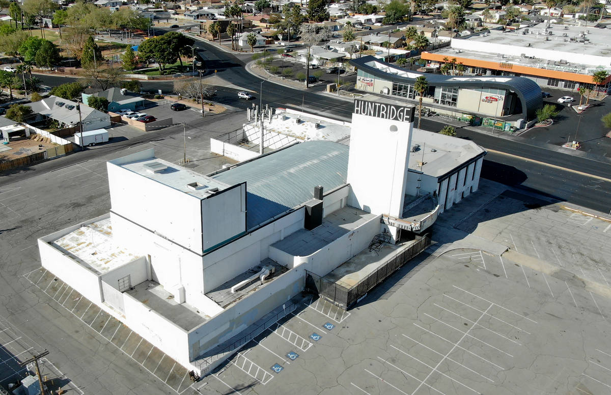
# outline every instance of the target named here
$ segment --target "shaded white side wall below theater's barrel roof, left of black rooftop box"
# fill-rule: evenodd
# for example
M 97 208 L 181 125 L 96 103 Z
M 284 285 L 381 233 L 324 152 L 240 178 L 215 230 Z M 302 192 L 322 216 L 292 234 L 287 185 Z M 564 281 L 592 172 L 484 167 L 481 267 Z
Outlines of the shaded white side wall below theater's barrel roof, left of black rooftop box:
M 304 208 L 296 210 L 204 256 L 203 292 L 210 292 L 269 257 L 269 245 L 303 228 L 304 213 Z

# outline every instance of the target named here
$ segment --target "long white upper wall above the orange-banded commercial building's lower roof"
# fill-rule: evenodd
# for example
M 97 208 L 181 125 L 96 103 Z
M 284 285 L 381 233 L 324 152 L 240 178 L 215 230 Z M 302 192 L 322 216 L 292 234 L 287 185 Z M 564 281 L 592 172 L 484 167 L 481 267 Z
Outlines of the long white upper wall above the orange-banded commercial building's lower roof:
M 557 33 L 558 32 L 556 32 L 556 34 Z M 507 37 L 511 37 L 511 35 L 507 35 L 507 33 L 505 33 L 505 35 Z M 534 35 L 532 35 L 532 37 L 534 37 Z M 554 37 L 557 37 L 557 35 Z M 545 40 L 545 37 L 540 35 L 540 40 Z M 561 59 L 565 59 L 569 63 L 609 67 L 608 56 L 586 55 L 582 53 L 565 52 L 562 50 L 542 50 L 541 48 L 536 48 L 534 46 L 486 43 L 477 39 L 452 39 L 450 46 L 452 46 L 452 48 L 484 53 L 502 53 L 505 55 L 518 57 L 520 57 L 521 54 L 525 54 L 526 56 L 534 56 L 536 58 L 549 59 L 551 61 L 560 61 Z M 558 42 L 558 48 L 562 48 L 562 42 Z

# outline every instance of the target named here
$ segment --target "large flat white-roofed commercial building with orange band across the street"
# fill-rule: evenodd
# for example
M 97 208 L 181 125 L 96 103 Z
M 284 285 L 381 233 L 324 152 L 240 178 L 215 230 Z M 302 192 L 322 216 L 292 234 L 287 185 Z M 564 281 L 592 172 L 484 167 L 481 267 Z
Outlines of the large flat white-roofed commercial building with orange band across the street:
M 599 70 L 611 73 L 611 31 L 538 23 L 455 37 L 449 47 L 422 53 L 429 67 L 439 67 L 444 58 L 455 58 L 474 75 L 522 76 L 540 86 L 607 90 L 611 76 L 596 87 L 592 74 Z

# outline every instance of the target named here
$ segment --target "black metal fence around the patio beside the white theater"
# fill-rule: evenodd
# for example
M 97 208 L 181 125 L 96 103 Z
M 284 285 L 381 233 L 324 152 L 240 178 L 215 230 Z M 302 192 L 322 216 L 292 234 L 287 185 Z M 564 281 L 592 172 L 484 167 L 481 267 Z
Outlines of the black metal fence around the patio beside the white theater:
M 325 300 L 346 310 L 373 289 L 373 287 L 397 271 L 398 268 L 424 251 L 429 245 L 431 245 L 431 235 L 422 236 L 420 240 L 409 246 L 409 248 L 404 249 L 401 253 L 384 262 L 376 271 L 371 272 L 367 277 L 349 289 L 305 270 L 305 292 L 316 293 Z

